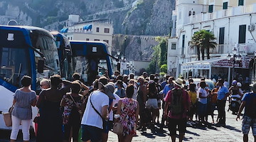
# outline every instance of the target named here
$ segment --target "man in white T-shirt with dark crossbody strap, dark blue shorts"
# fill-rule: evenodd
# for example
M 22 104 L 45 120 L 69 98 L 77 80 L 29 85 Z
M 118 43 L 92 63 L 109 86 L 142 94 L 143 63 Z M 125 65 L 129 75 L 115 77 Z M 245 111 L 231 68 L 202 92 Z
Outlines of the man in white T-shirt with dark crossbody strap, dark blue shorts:
M 104 85 L 99 82 L 99 89 L 90 94 L 81 121 L 82 141 L 102 140 L 100 134 L 104 129 L 103 124 L 105 120 L 109 119 L 109 116 L 107 116 L 109 99 L 115 99 L 113 92 L 114 84 L 108 83 Z

